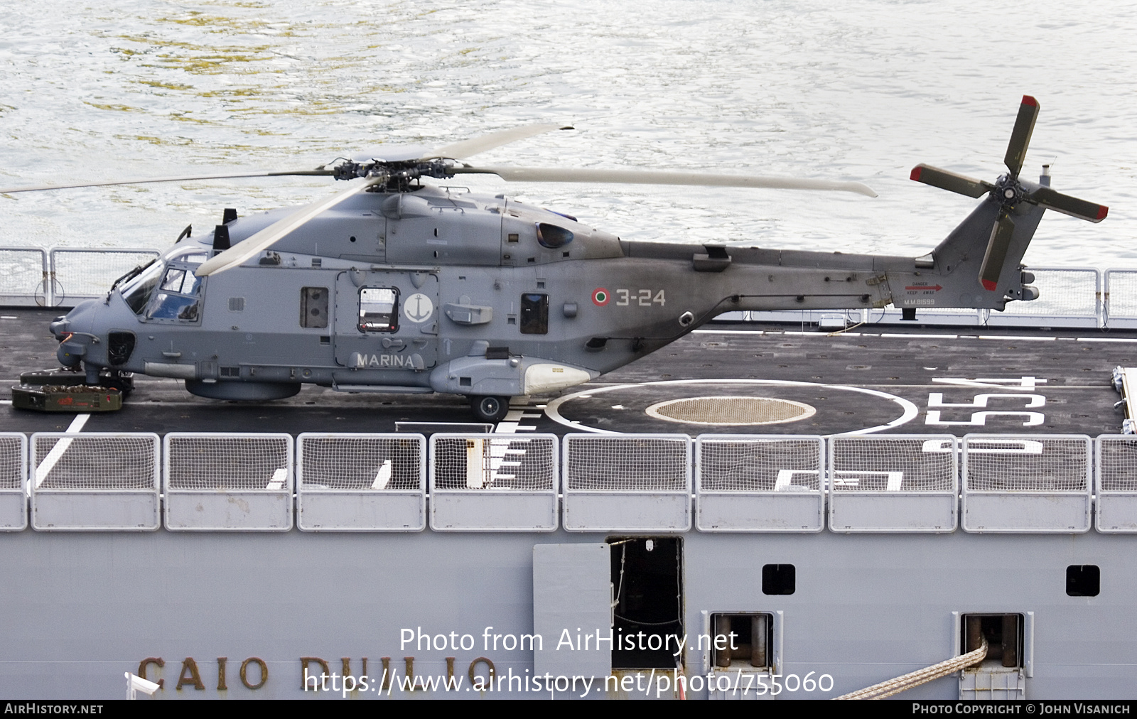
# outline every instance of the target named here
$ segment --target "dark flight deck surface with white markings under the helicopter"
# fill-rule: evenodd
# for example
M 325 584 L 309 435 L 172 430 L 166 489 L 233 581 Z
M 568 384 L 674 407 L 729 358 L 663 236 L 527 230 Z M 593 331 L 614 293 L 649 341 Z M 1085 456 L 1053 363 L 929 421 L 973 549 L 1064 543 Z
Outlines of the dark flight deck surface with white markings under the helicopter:
M 16 383 L 23 371 L 56 365 L 57 342 L 48 322 L 58 314 L 55 309 L 0 311 L 0 379 L 6 387 Z M 564 433 L 575 427 L 690 435 L 831 435 L 893 423 L 882 431 L 1096 436 L 1119 432 L 1124 418 L 1121 408 L 1113 407 L 1119 396 L 1111 386 L 1111 370 L 1137 364 L 1135 332 L 872 327 L 827 334 L 800 330 L 797 325 L 707 327 L 597 382 L 531 397 L 526 408 L 514 407 L 498 431 Z M 929 395 L 933 392 L 952 404 L 976 403 L 981 394 L 1004 396 L 988 398 L 986 407 L 941 407 L 940 422 L 972 422 L 944 425 L 929 423 Z M 562 395 L 565 398 L 556 403 Z M 669 399 L 737 395 L 791 399 L 815 407 L 816 413 L 763 425 L 687 424 L 646 413 L 648 406 Z M 1044 404 L 1029 395 L 1040 396 Z M 1028 403 L 1035 406 L 1028 408 Z M 561 422 L 549 416 L 550 404 Z M 1038 418 L 980 416 L 978 412 L 1034 412 L 1041 414 L 1041 421 L 1023 427 Z M 0 405 L 2 431 L 60 431 L 73 419 L 73 414 L 39 414 L 14 410 L 9 403 Z M 465 399 L 453 395 L 345 394 L 306 386 L 289 399 L 233 403 L 194 397 L 180 380 L 139 377 L 121 412 L 92 415 L 83 431 L 389 432 L 396 430 L 396 422 L 475 420 Z

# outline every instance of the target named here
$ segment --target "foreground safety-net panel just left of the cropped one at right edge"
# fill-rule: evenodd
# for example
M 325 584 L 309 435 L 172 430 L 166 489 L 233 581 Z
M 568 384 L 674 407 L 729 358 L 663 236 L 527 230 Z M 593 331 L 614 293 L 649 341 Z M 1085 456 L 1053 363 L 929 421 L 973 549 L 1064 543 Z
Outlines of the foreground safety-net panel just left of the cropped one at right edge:
M 1088 491 L 1089 438 L 965 437 L 968 491 Z

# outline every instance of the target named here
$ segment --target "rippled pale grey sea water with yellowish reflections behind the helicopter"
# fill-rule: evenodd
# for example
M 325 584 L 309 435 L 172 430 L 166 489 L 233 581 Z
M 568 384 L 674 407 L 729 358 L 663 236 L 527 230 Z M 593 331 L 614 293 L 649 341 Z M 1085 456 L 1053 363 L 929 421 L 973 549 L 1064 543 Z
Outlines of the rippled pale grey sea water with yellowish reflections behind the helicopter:
M 460 184 L 631 239 L 923 254 L 973 200 L 920 162 L 994 180 L 1020 97 L 1023 174 L 1110 206 L 1048 213 L 1036 266 L 1137 266 L 1137 6 L 1053 0 L 0 3 L 0 184 L 312 167 L 532 122 L 481 164 L 860 180 L 880 197 L 642 185 Z M 375 154 L 380 149 L 372 150 Z M 459 184 L 454 181 L 454 184 Z M 165 247 L 341 189 L 224 180 L 0 197 L 0 245 Z

